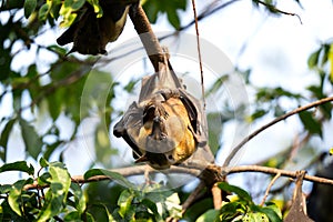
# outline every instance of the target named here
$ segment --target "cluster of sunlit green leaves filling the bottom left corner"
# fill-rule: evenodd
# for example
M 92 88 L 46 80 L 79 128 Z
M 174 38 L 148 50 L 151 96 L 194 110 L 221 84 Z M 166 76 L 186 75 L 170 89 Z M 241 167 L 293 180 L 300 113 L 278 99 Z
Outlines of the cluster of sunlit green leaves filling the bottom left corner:
M 169 216 L 181 216 L 178 193 L 161 191 L 160 184 L 135 188 L 119 173 L 98 169 L 88 171 L 85 179 L 108 175 L 128 185 L 128 189 L 122 188 L 117 205 L 109 209 L 101 202 L 92 204 L 82 185 L 71 181 L 63 163 L 41 159 L 40 165 L 38 172 L 26 161 L 1 167 L 1 172 L 16 170 L 29 175 L 13 184 L 0 185 L 2 221 L 49 221 L 52 218 L 64 221 L 164 221 Z M 38 176 L 33 178 L 36 173 Z

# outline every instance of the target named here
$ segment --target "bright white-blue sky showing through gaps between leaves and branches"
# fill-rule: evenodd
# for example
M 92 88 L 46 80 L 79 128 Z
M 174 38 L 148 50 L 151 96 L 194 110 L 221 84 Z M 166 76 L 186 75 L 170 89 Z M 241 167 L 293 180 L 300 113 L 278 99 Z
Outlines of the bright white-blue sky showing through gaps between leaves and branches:
M 206 2 L 198 1 L 198 12 L 204 8 Z M 303 0 L 301 1 L 303 9 L 300 8 L 295 2 L 290 0 L 280 0 L 278 8 L 287 12 L 297 13 L 302 20 L 302 23 L 297 17 L 291 16 L 271 16 L 266 13 L 262 8 L 260 10 L 254 9 L 251 1 L 238 1 L 224 10 L 214 13 L 213 16 L 202 20 L 199 23 L 200 37 L 202 39 L 203 47 L 211 47 L 219 49 L 224 53 L 224 63 L 228 69 L 229 65 L 238 64 L 240 68 L 251 68 L 252 74 L 251 80 L 256 87 L 283 87 L 285 89 L 292 90 L 294 92 L 301 92 L 304 85 L 309 85 L 314 81 L 317 81 L 314 74 L 311 74 L 306 67 L 306 61 L 312 51 L 314 51 L 321 42 L 325 42 L 333 37 L 332 21 L 333 21 L 333 7 L 331 0 Z M 186 24 L 192 20 L 192 9 L 188 7 L 186 12 L 182 12 L 182 24 Z M 165 17 L 161 17 L 158 20 L 158 24 L 152 27 L 157 33 L 164 33 L 173 31 L 173 28 L 167 22 Z M 60 36 L 63 30 L 52 30 L 47 32 L 44 36 L 37 39 L 40 44 L 54 43 L 56 38 Z M 185 33 L 193 36 L 195 33 L 194 27 L 185 30 Z M 108 46 L 108 49 L 112 52 L 121 48 L 121 46 L 131 41 L 137 33 L 132 27 L 130 19 L 128 20 L 127 27 L 115 43 Z M 172 40 L 167 42 L 174 47 L 174 52 L 176 52 L 176 47 L 172 44 Z M 244 44 L 248 42 L 248 44 Z M 163 43 L 163 42 L 162 42 Z M 185 43 L 184 43 L 185 44 Z M 183 46 L 183 44 L 182 44 Z M 245 46 L 245 48 L 244 48 Z M 17 46 L 20 49 L 20 46 Z M 242 51 L 241 49 L 244 50 Z M 204 50 L 204 49 L 203 49 Z M 183 52 L 181 49 L 179 51 Z M 178 52 L 179 52 L 178 51 Z M 242 53 L 240 53 L 242 51 Z M 51 53 L 46 53 L 42 56 L 40 63 L 48 63 L 54 60 L 54 56 Z M 174 59 L 173 59 L 174 58 Z M 182 53 L 173 54 L 172 62 L 173 67 L 180 73 L 190 73 L 188 81 L 190 87 L 194 89 L 198 88 L 199 82 L 199 65 L 193 62 L 194 58 L 185 57 Z M 215 54 L 208 54 L 203 57 L 205 83 L 209 85 L 213 80 L 219 78 L 209 60 L 215 59 Z M 13 61 L 12 65 L 16 69 L 20 69 L 22 61 L 24 63 L 33 62 L 34 59 L 28 52 L 21 52 L 17 59 Z M 133 60 L 134 61 L 134 60 Z M 185 64 L 185 65 L 184 65 Z M 121 64 L 120 64 L 121 65 Z M 43 67 L 41 65 L 41 69 Z M 112 69 L 118 69 L 117 65 Z M 125 78 L 127 73 L 138 72 L 138 70 L 145 70 L 144 64 L 140 61 L 134 61 L 131 65 L 127 67 L 119 78 Z M 226 69 L 226 70 L 228 70 Z M 42 71 L 42 70 L 41 70 Z M 47 79 L 43 81 L 48 81 Z M 191 83 L 192 82 L 192 83 Z M 246 89 L 248 95 L 251 99 L 252 91 Z M 228 97 L 228 92 L 226 93 Z M 224 94 L 225 95 L 225 94 Z M 10 100 L 10 98 L 7 98 Z M 131 99 L 127 99 L 124 107 L 129 104 Z M 3 108 L 2 102 L 1 113 L 3 115 L 11 112 Z M 27 101 L 29 103 L 29 101 Z M 219 104 L 214 104 L 210 101 L 210 109 L 219 109 Z M 290 110 L 294 109 L 294 104 L 285 103 L 285 107 Z M 250 105 L 249 109 L 254 109 Z M 47 118 L 46 118 L 47 119 Z M 40 119 L 46 120 L 46 119 Z M 268 117 L 259 123 L 254 123 L 249 127 L 248 132 L 254 130 L 262 125 L 263 123 L 271 120 Z M 87 122 L 87 124 L 93 123 L 93 118 Z M 47 129 L 50 123 L 38 123 L 40 130 Z M 70 121 L 64 117 L 58 120 L 58 124 L 63 128 L 63 137 L 65 132 L 72 129 Z M 84 125 L 84 124 L 83 124 Z M 223 150 L 219 153 L 216 158 L 218 163 L 222 163 L 226 157 L 229 149 L 234 143 L 234 138 L 236 134 L 238 125 L 230 124 L 224 128 L 231 130 L 224 130 L 223 134 Z M 79 133 L 87 132 L 87 128 L 80 129 Z M 325 130 L 330 132 L 332 125 L 327 124 Z M 291 118 L 287 121 L 278 123 L 271 129 L 266 130 L 253 141 L 251 141 L 246 147 L 245 151 L 242 152 L 241 157 L 236 159 L 233 164 L 241 163 L 254 163 L 256 161 L 265 159 L 271 152 L 279 152 L 281 149 L 290 145 L 291 140 L 302 130 L 296 118 Z M 9 145 L 16 148 L 9 151 L 8 160 L 16 161 L 24 158 L 24 152 L 22 149 L 22 140 L 19 137 L 20 132 L 18 129 L 14 130 L 11 135 Z M 232 139 L 230 139 L 232 138 Z M 114 139 L 111 139 L 114 140 Z M 316 141 L 319 142 L 319 141 Z M 324 141 L 320 142 L 320 149 L 326 149 L 332 147 L 333 138 L 329 134 L 324 135 Z M 70 144 L 65 151 L 65 161 L 69 171 L 74 174 L 82 174 L 93 160 L 92 154 L 92 140 L 87 138 L 84 141 L 75 141 Z M 82 149 L 83 148 L 83 149 Z M 229 149 L 228 149 L 229 148 Z M 271 152 L 262 152 L 262 148 L 268 148 Z M 121 155 L 125 157 L 130 150 L 127 145 L 122 144 Z M 75 157 L 78 161 L 71 161 L 71 157 Z M 124 158 L 125 161 L 132 161 L 131 159 Z M 1 181 L 0 181 L 1 182 Z

